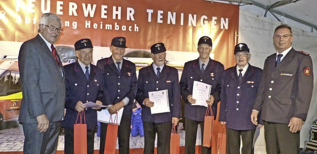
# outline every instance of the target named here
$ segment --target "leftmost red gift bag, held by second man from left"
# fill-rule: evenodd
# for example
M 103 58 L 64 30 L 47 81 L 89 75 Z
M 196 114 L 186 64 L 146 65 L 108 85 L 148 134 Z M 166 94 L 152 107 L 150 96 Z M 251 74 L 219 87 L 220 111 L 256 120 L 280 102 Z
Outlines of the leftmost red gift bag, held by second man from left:
M 84 123 L 82 117 L 84 115 Z M 80 122 L 77 124 L 78 117 Z M 84 110 L 78 112 L 76 124 L 74 124 L 74 154 L 87 154 L 87 125 Z

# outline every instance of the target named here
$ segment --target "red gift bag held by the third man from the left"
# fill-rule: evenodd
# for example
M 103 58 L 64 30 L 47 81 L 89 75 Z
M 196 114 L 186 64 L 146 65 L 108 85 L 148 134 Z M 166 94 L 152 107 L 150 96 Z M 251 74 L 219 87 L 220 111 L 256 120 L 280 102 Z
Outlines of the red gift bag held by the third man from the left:
M 116 121 L 116 122 L 115 122 Z M 118 134 L 118 126 L 117 123 L 117 114 L 115 115 L 114 120 L 112 121 L 112 116 L 110 116 L 107 133 L 106 133 L 106 145 L 104 154 L 115 154 L 115 146 L 117 143 L 117 134 Z

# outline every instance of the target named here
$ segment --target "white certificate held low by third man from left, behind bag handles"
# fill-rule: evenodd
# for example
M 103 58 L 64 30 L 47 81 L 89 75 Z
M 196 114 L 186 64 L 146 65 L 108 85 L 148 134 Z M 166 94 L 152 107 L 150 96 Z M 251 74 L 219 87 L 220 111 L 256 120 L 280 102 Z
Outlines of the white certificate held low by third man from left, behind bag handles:
M 118 110 L 117 114 L 112 114 L 110 115 L 109 111 L 107 109 L 103 109 L 101 111 L 97 111 L 97 120 L 103 123 L 114 123 L 117 125 L 120 125 L 122 113 L 123 113 L 123 108 L 122 107 L 120 110 Z M 110 120 L 110 116 L 112 118 L 112 121 Z M 115 116 L 117 116 L 115 120 Z

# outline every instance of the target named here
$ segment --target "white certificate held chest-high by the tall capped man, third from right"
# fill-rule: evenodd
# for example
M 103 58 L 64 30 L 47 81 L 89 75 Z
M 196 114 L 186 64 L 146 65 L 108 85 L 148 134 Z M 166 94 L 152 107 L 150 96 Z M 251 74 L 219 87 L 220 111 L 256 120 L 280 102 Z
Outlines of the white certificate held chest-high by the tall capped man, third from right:
M 193 99 L 196 100 L 196 103 L 192 103 L 192 105 L 202 105 L 208 106 L 206 100 L 210 99 L 211 85 L 194 81 L 193 85 Z

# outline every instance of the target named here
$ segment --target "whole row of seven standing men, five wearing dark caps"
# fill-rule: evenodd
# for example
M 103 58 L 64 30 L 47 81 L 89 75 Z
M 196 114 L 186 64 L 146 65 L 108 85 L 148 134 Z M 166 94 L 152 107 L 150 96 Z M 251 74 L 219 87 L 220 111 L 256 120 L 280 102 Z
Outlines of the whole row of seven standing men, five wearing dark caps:
M 312 98 L 313 67 L 308 53 L 291 47 L 289 26 L 276 27 L 276 53 L 266 58 L 264 70 L 249 63 L 251 54 L 244 43 L 234 48 L 236 65 L 224 70 L 223 64 L 210 58 L 211 38 L 203 36 L 198 42 L 199 57 L 184 64 L 180 80 L 178 70 L 165 64 L 163 43 L 151 47 L 153 63 L 141 68 L 137 78 L 135 64 L 123 59 L 127 48 L 124 37 L 112 39 L 112 55 L 98 60 L 97 66 L 91 63 L 91 40 L 78 40 L 74 45 L 78 60 L 62 66 L 54 48 L 61 27 L 57 15 L 43 14 L 39 34 L 23 43 L 19 52 L 23 92 L 19 121 L 25 136 L 24 154 L 54 154 L 60 126 L 65 128 L 65 154 L 72 154 L 73 126 L 81 111 L 86 117 L 87 153 L 93 154 L 97 110 L 101 108 L 86 108 L 84 103 L 88 102 L 111 105 L 110 114 L 124 107 L 118 127 L 119 154 L 129 154 L 134 100 L 142 106 L 144 154 L 154 154 L 156 134 L 158 154 L 169 154 L 171 127 L 179 121 L 181 98 L 185 101 L 185 154 L 195 154 L 198 125 L 203 142 L 207 108 L 192 105 L 197 101 L 193 98 L 194 81 L 211 85 L 206 103 L 213 115 L 221 100 L 219 121 L 226 125 L 227 154 L 240 154 L 240 137 L 242 153 L 253 154 L 255 129 L 262 125 L 268 154 L 298 154 L 299 131 Z M 149 99 L 149 92 L 161 90 L 167 90 L 169 111 L 152 114 L 151 107 L 156 103 Z M 100 154 L 107 144 L 106 129 L 107 124 L 102 123 Z M 202 146 L 202 154 L 211 154 L 211 148 Z

